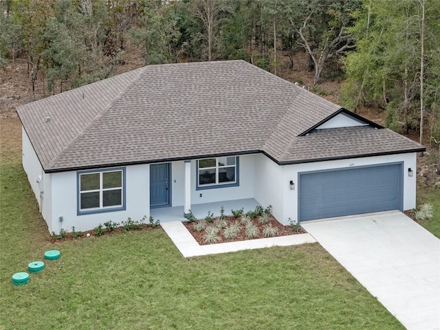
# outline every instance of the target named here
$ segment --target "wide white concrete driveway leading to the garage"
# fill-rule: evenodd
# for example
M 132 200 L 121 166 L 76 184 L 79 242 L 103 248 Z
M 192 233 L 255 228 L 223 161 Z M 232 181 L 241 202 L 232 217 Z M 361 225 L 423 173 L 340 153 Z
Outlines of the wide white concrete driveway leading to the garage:
M 440 240 L 397 211 L 303 228 L 406 329 L 440 329 Z

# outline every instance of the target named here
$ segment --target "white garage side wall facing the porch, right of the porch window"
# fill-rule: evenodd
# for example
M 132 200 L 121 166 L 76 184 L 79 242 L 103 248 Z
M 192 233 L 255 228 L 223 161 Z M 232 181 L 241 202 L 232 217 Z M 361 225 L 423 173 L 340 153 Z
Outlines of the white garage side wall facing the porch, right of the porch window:
M 254 199 L 263 208 L 272 206 L 272 214 L 278 221 L 284 217 L 284 187 L 289 182 L 283 180 L 283 166 L 279 166 L 272 159 L 263 154 L 254 156 Z

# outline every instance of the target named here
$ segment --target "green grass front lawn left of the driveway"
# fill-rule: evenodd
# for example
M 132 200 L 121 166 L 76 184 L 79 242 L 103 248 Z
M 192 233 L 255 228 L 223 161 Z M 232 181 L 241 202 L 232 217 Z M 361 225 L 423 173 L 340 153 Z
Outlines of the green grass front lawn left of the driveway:
M 160 228 L 47 242 L 19 142 L 1 134 L 0 329 L 404 329 L 318 244 L 184 259 Z

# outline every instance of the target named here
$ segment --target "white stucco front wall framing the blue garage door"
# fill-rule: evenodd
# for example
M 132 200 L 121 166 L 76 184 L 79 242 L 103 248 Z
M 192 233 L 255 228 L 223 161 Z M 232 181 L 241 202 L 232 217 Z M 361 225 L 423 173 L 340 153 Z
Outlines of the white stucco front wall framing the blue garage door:
M 366 166 L 374 164 L 387 164 L 394 162 L 404 162 L 403 181 L 404 181 L 404 210 L 415 208 L 416 191 L 416 153 L 406 153 L 401 155 L 386 155 L 378 157 L 362 157 L 355 159 L 333 160 L 329 162 L 315 162 L 307 164 L 294 164 L 283 166 L 282 181 L 293 180 L 295 190 L 290 190 L 289 186 L 283 186 L 284 214 L 283 217 L 277 217 L 283 224 L 289 224 L 289 218 L 298 220 L 298 173 L 311 170 L 325 170 L 331 168 L 354 168 L 355 166 Z M 414 172 L 412 177 L 408 177 L 408 168 Z

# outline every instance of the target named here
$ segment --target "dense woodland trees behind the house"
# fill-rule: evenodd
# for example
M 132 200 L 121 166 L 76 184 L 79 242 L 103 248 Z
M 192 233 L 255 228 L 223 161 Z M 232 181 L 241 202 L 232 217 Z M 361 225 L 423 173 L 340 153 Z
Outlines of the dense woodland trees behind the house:
M 243 59 L 283 76 L 298 52 L 311 91 L 386 113 L 386 126 L 440 146 L 439 0 L 3 0 L 0 72 L 26 59 L 35 90 L 57 94 L 144 64 Z M 35 94 L 34 94 L 35 98 Z M 439 149 L 440 150 L 440 149 Z

